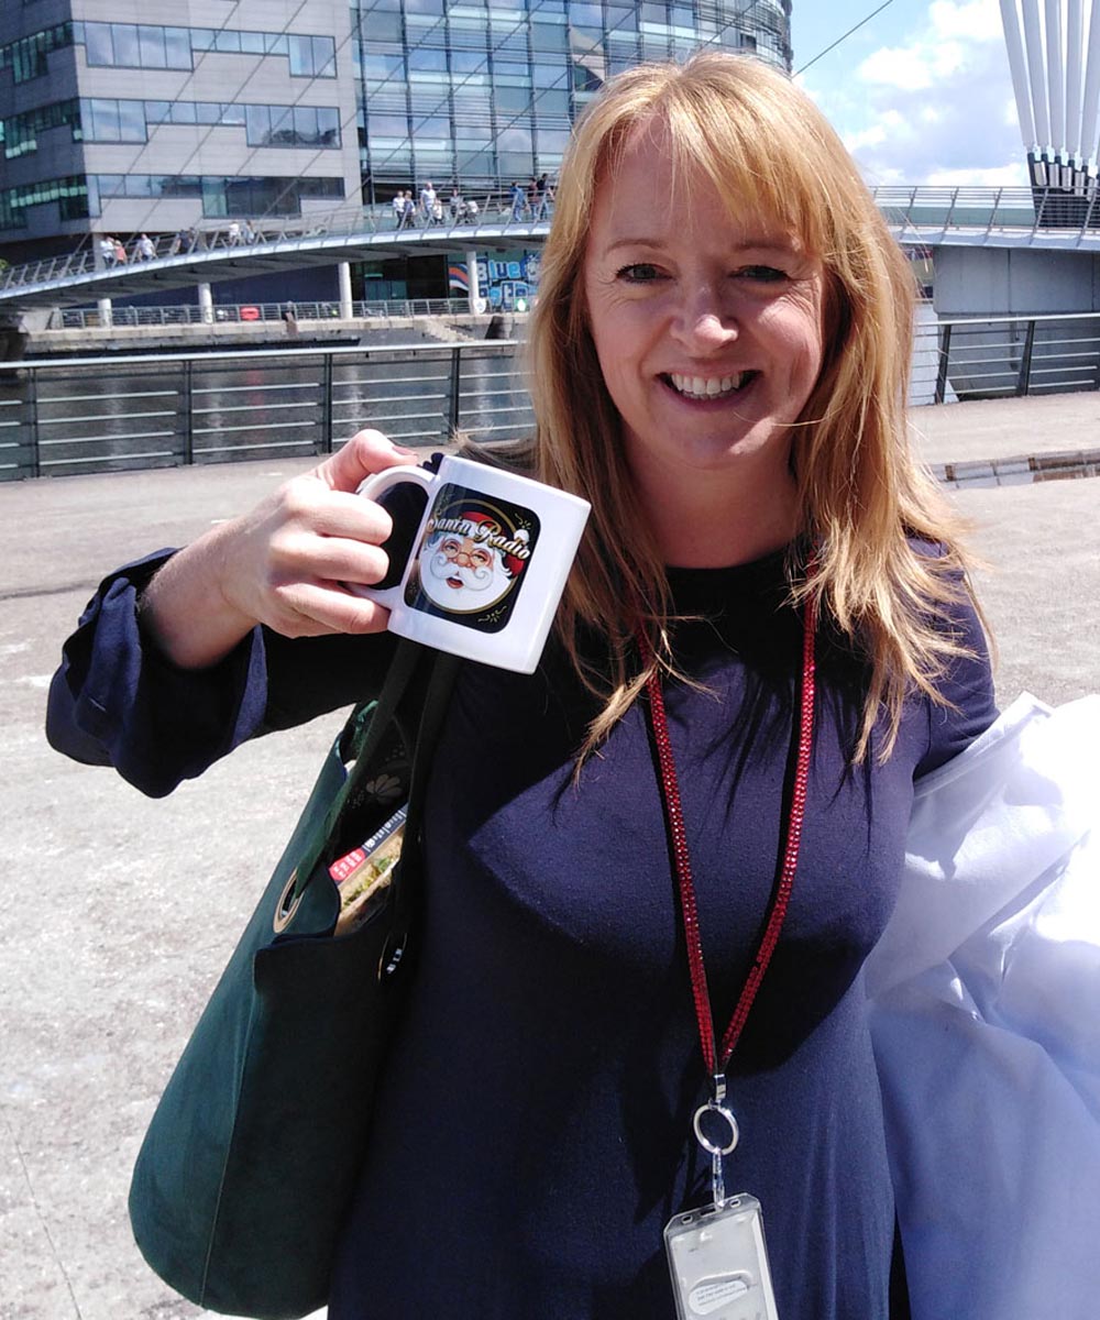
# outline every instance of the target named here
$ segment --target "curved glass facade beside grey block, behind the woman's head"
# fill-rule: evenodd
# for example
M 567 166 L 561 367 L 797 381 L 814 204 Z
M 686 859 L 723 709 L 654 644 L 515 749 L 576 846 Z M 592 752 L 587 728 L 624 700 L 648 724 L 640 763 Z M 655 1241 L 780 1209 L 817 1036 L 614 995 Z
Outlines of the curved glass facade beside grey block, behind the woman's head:
M 716 46 L 791 67 L 790 0 L 353 0 L 351 21 L 364 201 L 553 176 L 578 111 L 639 59 Z

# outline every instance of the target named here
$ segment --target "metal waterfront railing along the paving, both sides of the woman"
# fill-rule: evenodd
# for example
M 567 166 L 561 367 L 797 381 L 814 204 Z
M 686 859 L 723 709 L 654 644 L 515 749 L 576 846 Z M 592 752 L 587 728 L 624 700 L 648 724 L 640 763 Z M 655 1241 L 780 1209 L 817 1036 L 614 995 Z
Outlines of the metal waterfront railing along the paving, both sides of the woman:
M 405 445 L 530 434 L 514 341 L 0 363 L 0 479 L 321 454 L 362 426 Z M 910 403 L 1100 387 L 1100 313 L 918 314 Z

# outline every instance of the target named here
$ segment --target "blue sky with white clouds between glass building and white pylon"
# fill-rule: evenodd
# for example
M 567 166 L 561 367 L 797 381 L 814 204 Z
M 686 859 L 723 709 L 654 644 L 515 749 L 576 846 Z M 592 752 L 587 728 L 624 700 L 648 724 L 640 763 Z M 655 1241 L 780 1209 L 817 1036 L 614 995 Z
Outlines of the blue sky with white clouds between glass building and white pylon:
M 802 69 L 882 0 L 794 0 Z M 1026 186 L 997 0 L 891 0 L 799 82 L 869 185 Z

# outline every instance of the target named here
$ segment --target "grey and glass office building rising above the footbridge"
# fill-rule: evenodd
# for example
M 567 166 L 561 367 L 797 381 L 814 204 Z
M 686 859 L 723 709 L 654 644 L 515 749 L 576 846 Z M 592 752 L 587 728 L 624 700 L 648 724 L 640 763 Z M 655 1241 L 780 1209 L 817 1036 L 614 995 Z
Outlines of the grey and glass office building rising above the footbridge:
M 556 173 L 610 74 L 790 67 L 790 0 L 5 0 L 0 252 Z

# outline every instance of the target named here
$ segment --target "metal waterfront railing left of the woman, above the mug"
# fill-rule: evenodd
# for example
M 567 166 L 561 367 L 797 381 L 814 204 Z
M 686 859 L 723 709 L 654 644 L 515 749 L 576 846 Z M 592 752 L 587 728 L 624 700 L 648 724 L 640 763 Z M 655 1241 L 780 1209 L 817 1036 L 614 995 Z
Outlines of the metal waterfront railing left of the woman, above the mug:
M 533 418 L 514 341 L 0 363 L 0 479 L 433 446 Z

